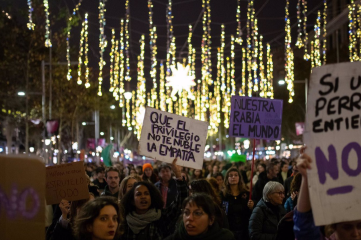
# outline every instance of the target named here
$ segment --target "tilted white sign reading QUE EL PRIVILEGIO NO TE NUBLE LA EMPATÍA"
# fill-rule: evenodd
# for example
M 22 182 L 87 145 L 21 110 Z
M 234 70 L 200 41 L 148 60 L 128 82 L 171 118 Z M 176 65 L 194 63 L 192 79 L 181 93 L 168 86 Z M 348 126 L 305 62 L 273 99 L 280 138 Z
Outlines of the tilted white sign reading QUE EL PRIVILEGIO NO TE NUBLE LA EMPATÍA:
M 181 166 L 202 169 L 209 123 L 145 108 L 138 153 Z

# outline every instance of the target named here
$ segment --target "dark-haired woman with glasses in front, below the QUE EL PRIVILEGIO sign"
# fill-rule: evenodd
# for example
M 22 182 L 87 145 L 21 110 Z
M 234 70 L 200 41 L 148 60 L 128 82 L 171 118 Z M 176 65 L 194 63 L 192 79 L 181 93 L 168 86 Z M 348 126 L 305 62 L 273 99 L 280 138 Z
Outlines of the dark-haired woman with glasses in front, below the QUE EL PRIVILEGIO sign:
M 165 240 L 234 240 L 232 232 L 221 228 L 221 216 L 214 200 L 205 193 L 193 193 L 183 202 L 183 216 L 173 235 Z

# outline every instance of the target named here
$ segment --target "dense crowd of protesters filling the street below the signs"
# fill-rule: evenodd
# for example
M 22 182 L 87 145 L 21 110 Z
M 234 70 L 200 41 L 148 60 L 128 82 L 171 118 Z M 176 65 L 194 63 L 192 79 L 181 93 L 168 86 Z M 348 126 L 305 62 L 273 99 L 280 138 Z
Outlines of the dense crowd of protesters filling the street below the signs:
M 47 240 L 361 240 L 361 220 L 314 225 L 304 148 L 297 163 L 257 160 L 252 181 L 251 161 L 176 161 L 85 163 L 89 198 L 53 205 Z

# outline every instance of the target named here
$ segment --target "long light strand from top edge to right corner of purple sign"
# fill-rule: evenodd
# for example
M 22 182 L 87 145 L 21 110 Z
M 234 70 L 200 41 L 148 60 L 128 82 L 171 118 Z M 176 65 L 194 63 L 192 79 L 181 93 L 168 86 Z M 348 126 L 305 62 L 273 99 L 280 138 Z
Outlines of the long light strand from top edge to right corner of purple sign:
M 286 31 L 286 37 L 285 37 L 285 72 L 286 77 L 285 81 L 287 83 L 287 89 L 289 91 L 288 96 L 288 102 L 293 102 L 293 96 L 294 96 L 294 89 L 293 89 L 293 80 L 294 80 L 294 65 L 293 65 L 293 50 L 291 48 L 291 26 L 290 26 L 290 19 L 289 19 L 289 0 L 286 1 L 286 7 L 285 7 L 285 31 Z

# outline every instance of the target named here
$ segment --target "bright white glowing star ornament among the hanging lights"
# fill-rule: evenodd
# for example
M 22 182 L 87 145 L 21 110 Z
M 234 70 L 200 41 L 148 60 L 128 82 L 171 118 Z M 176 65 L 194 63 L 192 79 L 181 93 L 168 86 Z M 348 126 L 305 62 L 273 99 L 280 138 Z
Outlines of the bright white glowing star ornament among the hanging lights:
M 196 76 L 188 75 L 190 67 L 190 65 L 187 65 L 185 67 L 182 63 L 179 62 L 177 62 L 177 68 L 175 68 L 175 65 L 170 66 L 173 75 L 166 77 L 168 82 L 165 84 L 165 86 L 172 87 L 170 97 L 174 98 L 177 92 L 178 95 L 182 94 L 183 90 L 186 90 L 188 92 L 189 98 L 193 96 L 191 87 L 196 85 L 196 82 L 194 81 Z

